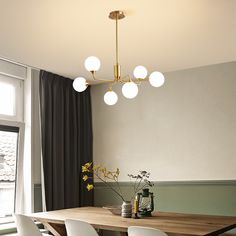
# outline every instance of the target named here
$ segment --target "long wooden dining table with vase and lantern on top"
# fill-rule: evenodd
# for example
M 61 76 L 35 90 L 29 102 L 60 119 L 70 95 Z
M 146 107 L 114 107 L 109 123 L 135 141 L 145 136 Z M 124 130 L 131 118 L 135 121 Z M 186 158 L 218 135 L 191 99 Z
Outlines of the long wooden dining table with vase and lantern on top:
M 91 224 L 95 229 L 118 231 L 127 235 L 129 226 L 158 228 L 168 235 L 219 235 L 236 228 L 236 217 L 154 212 L 151 217 L 133 219 L 113 215 L 101 207 L 81 207 L 29 215 L 41 222 L 53 235 L 65 236 L 65 220 L 76 219 Z

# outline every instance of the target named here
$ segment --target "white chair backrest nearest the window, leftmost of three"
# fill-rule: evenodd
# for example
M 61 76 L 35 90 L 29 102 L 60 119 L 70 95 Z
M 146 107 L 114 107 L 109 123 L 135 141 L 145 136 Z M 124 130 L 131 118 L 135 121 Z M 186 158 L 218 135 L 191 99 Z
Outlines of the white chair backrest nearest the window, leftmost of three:
M 42 236 L 34 221 L 28 216 L 15 214 L 15 222 L 19 236 Z

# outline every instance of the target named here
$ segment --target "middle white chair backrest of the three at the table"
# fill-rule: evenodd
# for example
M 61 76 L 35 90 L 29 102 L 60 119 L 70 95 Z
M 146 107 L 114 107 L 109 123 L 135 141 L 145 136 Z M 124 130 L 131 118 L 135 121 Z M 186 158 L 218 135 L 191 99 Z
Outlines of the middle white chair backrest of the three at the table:
M 65 225 L 67 236 L 98 236 L 96 230 L 86 222 L 68 219 Z

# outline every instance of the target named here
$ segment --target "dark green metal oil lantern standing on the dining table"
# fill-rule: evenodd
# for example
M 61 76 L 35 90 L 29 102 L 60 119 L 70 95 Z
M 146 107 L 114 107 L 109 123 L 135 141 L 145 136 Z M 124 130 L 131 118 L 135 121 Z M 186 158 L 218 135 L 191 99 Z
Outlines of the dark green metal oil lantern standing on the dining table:
M 153 193 L 148 188 L 143 189 L 142 193 L 138 193 L 140 216 L 152 216 L 154 210 Z

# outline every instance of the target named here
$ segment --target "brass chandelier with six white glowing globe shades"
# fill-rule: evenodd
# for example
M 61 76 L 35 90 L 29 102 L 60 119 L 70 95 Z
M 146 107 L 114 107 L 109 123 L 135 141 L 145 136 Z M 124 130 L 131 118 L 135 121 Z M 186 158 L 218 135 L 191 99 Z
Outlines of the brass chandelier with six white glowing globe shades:
M 138 94 L 138 86 L 143 81 L 148 81 L 154 87 L 160 87 L 164 84 L 164 75 L 159 71 L 152 72 L 148 77 L 148 71 L 144 66 L 136 66 L 133 71 L 133 78 L 129 75 L 121 76 L 121 66 L 119 64 L 119 52 L 118 52 L 118 21 L 125 17 L 122 11 L 112 11 L 109 14 L 109 18 L 116 22 L 116 63 L 114 65 L 114 79 L 105 80 L 96 78 L 96 72 L 100 69 L 100 60 L 95 56 L 88 57 L 84 66 L 87 71 L 92 75 L 94 81 L 102 81 L 109 83 L 108 91 L 104 95 L 104 102 L 107 105 L 115 105 L 118 101 L 118 95 L 112 90 L 113 85 L 120 83 L 122 85 L 122 94 L 128 98 L 135 98 Z M 78 77 L 73 82 L 73 88 L 77 92 L 83 92 L 88 87 L 89 82 L 83 77 Z

